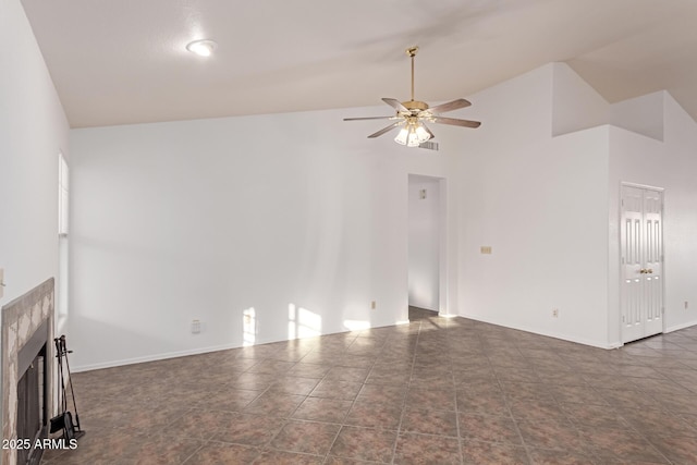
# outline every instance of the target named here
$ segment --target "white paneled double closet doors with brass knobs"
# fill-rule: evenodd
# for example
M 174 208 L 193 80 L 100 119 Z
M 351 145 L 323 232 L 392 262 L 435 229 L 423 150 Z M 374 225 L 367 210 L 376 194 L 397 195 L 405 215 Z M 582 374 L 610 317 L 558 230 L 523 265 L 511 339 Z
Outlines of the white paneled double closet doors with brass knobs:
M 663 331 L 663 193 L 622 186 L 622 342 Z

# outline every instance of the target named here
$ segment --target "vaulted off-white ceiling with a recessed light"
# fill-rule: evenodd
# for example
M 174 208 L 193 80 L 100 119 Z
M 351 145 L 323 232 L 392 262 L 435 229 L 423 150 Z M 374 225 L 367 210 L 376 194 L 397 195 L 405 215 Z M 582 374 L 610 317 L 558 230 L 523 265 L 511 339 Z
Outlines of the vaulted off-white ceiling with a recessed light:
M 695 0 L 23 0 L 73 127 L 442 101 L 565 61 L 697 119 Z M 213 57 L 185 50 L 211 38 Z M 389 109 L 386 107 L 386 110 Z

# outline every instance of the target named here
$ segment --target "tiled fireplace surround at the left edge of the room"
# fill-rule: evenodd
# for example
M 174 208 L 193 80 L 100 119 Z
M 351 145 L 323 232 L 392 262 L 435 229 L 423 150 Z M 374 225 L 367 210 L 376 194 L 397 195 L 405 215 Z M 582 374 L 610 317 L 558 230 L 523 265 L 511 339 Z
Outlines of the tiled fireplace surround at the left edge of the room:
M 48 322 L 46 357 L 48 374 L 53 372 L 54 284 L 49 279 L 2 307 L 2 438 L 16 439 L 19 355 L 44 322 Z M 46 376 L 47 392 L 53 392 L 53 377 Z M 52 413 L 49 396 L 48 415 Z M 2 464 L 16 463 L 16 450 L 2 450 Z

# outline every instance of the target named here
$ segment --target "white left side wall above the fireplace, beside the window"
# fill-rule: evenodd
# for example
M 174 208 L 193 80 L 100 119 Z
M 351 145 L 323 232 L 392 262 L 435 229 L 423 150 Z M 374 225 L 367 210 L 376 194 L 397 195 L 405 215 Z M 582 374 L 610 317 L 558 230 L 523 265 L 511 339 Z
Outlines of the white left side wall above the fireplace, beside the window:
M 19 0 L 0 0 L 0 42 L 1 307 L 57 273 L 58 152 L 68 156 L 68 122 Z

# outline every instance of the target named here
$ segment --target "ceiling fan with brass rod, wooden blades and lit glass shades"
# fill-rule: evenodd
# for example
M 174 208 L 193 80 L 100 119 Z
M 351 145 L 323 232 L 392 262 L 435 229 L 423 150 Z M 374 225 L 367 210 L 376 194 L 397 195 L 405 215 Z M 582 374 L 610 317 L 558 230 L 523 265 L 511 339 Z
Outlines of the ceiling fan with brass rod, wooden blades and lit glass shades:
M 368 138 L 379 137 L 396 127 L 401 127 L 400 133 L 394 138 L 398 144 L 407 147 L 418 147 L 430 138 L 436 137 L 425 123 L 450 124 L 462 127 L 479 127 L 479 121 L 458 120 L 455 118 L 443 118 L 440 114 L 447 111 L 457 110 L 460 108 L 469 107 L 472 103 L 464 98 L 441 103 L 430 108 L 425 101 L 414 100 L 414 57 L 418 47 L 409 47 L 406 54 L 412 58 L 412 99 L 400 102 L 393 98 L 383 98 L 390 107 L 396 110 L 394 117 L 367 117 L 367 118 L 344 118 L 344 121 L 362 121 L 362 120 L 394 120 L 394 123 L 381 129 L 377 133 L 372 133 Z

